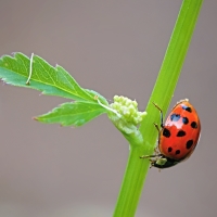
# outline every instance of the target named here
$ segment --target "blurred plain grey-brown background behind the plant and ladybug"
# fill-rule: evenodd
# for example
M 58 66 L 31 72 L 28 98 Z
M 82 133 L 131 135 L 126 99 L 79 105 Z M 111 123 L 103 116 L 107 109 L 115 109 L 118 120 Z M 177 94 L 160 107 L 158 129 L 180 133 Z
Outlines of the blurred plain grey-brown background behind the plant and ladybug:
M 44 58 L 106 99 L 155 82 L 181 0 L 1 0 L 0 55 Z M 189 98 L 202 137 L 184 163 L 151 169 L 137 217 L 217 216 L 217 1 L 204 2 L 171 106 Z M 100 116 L 82 128 L 31 119 L 66 100 L 0 85 L 0 216 L 110 217 L 128 144 Z

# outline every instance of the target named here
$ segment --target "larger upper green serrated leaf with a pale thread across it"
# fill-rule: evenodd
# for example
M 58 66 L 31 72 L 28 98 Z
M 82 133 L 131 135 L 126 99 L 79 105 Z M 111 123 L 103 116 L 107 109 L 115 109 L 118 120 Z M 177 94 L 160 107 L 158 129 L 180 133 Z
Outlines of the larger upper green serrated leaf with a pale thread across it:
M 81 88 L 76 80 L 61 66 L 51 66 L 38 55 L 33 58 L 33 72 L 29 85 L 26 81 L 29 76 L 30 60 L 23 53 L 14 56 L 4 55 L 0 59 L 0 78 L 13 86 L 33 88 L 42 91 L 43 94 L 58 95 L 79 101 L 94 102 L 93 92 Z M 102 103 L 106 100 L 99 95 Z

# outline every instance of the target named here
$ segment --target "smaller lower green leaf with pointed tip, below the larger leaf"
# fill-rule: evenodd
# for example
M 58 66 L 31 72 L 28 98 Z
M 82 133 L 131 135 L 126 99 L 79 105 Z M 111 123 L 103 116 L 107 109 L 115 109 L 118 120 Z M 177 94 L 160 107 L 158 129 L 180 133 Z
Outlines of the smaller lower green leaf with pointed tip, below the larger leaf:
M 76 101 L 61 104 L 35 119 L 46 124 L 59 123 L 62 126 L 79 127 L 106 112 L 106 108 L 98 103 Z

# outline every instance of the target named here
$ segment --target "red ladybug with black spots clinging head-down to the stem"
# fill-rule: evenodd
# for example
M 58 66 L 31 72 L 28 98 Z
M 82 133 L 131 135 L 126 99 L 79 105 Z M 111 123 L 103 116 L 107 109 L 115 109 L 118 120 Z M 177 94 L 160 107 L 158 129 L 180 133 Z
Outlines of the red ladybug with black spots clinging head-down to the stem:
M 141 158 L 151 157 L 153 167 L 169 168 L 193 153 L 201 133 L 200 118 L 193 105 L 186 99 L 174 106 L 163 124 L 163 112 L 158 105 L 153 104 L 161 112 L 161 129 L 154 124 L 158 131 L 158 151 L 155 155 L 144 155 Z

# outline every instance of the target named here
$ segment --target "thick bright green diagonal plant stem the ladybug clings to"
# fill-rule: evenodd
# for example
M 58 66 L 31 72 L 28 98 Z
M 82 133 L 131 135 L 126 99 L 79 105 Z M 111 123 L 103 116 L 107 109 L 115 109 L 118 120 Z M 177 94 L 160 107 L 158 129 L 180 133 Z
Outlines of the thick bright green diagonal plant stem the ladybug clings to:
M 143 144 L 136 145 L 130 142 L 128 164 L 113 214 L 114 217 L 132 217 L 136 214 L 150 165 L 148 159 L 139 157 L 153 153 L 157 137 L 153 123 L 159 123 L 159 113 L 154 108 L 152 102 L 157 103 L 164 114 L 166 113 L 178 82 L 202 3 L 203 0 L 183 0 L 182 2 L 155 87 L 146 106 L 148 115 L 139 129 L 143 137 Z

